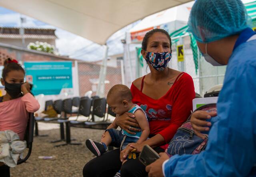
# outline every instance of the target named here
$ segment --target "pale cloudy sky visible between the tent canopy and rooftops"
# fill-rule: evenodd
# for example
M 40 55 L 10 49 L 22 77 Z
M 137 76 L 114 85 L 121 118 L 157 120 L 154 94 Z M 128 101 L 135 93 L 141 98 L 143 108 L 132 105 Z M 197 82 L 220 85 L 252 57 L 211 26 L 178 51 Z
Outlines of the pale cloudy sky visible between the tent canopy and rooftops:
M 252 2 L 254 0 L 242 0 L 244 3 Z M 56 29 L 56 48 L 61 55 L 70 56 L 70 58 L 76 58 L 85 61 L 96 61 L 102 60 L 103 57 L 103 47 L 90 41 L 81 36 L 72 34 L 60 28 L 54 27 L 52 25 L 40 22 L 34 18 L 19 14 L 12 10 L 0 7 L 0 26 L 9 27 L 20 27 L 20 17 L 26 18 L 26 23 L 23 24 L 24 27 L 32 28 L 54 28 Z M 139 21 L 138 21 L 139 22 Z M 130 30 L 138 22 L 130 24 L 125 28 L 119 30 L 113 34 L 107 41 L 109 47 L 108 55 L 120 54 L 123 52 L 123 45 L 121 39 L 125 38 L 125 32 Z

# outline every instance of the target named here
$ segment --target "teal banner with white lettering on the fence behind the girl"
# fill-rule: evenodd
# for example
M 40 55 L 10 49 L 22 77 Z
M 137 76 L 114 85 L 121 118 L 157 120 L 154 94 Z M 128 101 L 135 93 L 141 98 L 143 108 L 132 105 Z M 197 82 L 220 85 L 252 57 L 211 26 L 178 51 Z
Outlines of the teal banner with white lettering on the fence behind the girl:
M 24 62 L 24 66 L 34 95 L 58 95 L 63 88 L 73 88 L 72 62 Z

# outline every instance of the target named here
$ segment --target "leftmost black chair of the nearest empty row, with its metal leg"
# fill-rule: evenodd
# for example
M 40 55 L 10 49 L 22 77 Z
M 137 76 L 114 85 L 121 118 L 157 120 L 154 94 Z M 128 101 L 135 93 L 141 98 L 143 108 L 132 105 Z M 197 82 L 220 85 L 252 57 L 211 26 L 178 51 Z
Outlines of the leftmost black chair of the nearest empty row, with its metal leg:
M 56 145 L 55 147 L 68 145 L 68 144 L 70 144 L 70 145 L 81 145 L 81 143 L 71 143 L 71 140 L 73 140 L 73 139 L 70 138 L 70 136 L 71 136 L 70 135 L 70 127 L 84 127 L 84 122 L 85 121 L 78 121 L 78 116 L 79 115 L 83 115 L 85 117 L 90 116 L 91 102 L 92 102 L 92 99 L 89 98 L 89 97 L 85 97 L 85 98 L 80 99 L 80 106 L 79 106 L 79 109 L 78 109 L 78 115 L 77 115 L 76 120 L 65 122 L 66 123 L 66 143 Z

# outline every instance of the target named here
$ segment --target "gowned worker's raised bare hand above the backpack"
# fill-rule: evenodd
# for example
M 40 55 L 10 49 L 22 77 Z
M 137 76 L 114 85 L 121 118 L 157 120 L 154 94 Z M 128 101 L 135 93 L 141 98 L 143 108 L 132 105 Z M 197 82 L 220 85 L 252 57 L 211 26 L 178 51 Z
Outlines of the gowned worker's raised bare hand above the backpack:
M 206 119 L 210 119 L 211 117 L 215 117 L 217 112 L 206 112 L 206 111 L 196 111 L 191 115 L 191 125 L 199 137 L 205 139 L 205 136 L 200 133 L 201 131 L 209 131 L 212 123 L 206 121 Z

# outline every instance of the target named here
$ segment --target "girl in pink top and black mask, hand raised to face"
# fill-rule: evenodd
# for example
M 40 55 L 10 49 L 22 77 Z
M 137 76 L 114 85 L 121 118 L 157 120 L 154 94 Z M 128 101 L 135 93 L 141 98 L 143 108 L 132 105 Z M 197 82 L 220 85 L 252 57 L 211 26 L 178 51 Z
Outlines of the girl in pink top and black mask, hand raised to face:
M 16 60 L 8 58 L 4 62 L 1 83 L 6 95 L 0 97 L 0 131 L 12 130 L 21 140 L 28 123 L 28 112 L 40 108 L 38 101 L 30 93 L 30 84 L 24 83 L 25 71 Z

